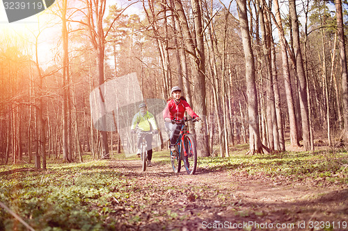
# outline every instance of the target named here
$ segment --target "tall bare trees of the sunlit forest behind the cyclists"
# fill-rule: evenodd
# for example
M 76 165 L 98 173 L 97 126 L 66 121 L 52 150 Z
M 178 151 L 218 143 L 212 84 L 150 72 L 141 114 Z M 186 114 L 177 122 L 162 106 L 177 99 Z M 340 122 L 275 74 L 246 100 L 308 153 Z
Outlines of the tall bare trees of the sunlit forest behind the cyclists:
M 184 89 L 203 118 L 196 128 L 203 157 L 228 157 L 229 146 L 244 143 L 253 154 L 285 151 L 287 139 L 305 151 L 315 140 L 347 142 L 342 3 L 198 3 L 57 1 L 27 35 L 5 28 L 1 162 L 25 156 L 45 169 L 47 157 L 120 153 L 127 135 L 96 129 L 88 99 L 127 74 L 137 76 L 136 101 Z M 127 15 L 134 6 L 139 15 Z

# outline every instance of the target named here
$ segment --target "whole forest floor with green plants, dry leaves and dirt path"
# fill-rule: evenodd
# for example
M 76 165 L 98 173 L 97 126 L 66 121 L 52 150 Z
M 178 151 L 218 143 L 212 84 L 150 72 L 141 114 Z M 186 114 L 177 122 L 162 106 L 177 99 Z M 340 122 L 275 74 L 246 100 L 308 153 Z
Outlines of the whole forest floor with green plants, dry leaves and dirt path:
M 348 230 L 347 150 L 237 152 L 200 159 L 193 176 L 166 151 L 145 172 L 124 155 L 0 166 L 0 201 L 34 230 Z M 26 228 L 0 208 L 0 230 Z

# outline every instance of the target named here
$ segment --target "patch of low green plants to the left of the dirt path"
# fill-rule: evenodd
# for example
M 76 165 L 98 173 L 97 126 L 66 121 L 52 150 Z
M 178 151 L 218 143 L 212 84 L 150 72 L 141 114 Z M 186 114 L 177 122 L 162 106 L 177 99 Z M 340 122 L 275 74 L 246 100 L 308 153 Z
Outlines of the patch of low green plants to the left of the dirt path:
M 130 185 L 129 179 L 106 165 L 104 160 L 49 164 L 48 171 L 28 169 L 2 175 L 0 201 L 30 221 L 35 230 L 103 230 L 103 221 L 113 211 L 111 201 L 126 200 Z M 16 227 L 24 230 L 0 209 L 0 230 Z

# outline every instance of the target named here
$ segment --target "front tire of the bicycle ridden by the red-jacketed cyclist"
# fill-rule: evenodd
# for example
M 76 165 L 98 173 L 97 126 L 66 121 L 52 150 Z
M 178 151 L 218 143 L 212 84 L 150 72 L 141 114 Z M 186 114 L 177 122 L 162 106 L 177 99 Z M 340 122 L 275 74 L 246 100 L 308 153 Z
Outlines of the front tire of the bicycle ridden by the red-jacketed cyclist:
M 185 166 L 187 174 L 193 175 L 194 173 L 196 173 L 196 169 L 197 169 L 197 150 L 196 150 L 196 140 L 194 139 L 192 134 L 185 135 L 184 146 L 187 153 L 187 156 L 184 156 L 184 153 L 182 153 L 184 166 Z

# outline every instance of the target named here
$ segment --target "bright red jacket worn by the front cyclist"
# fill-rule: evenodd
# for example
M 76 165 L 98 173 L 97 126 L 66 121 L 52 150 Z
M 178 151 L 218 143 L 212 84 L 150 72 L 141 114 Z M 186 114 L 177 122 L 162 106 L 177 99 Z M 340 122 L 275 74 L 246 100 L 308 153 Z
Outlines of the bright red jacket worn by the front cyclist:
M 192 118 L 198 117 L 198 115 L 195 112 L 193 112 L 187 101 L 180 99 L 178 103 L 175 103 L 174 99 L 171 99 L 167 102 L 166 108 L 164 108 L 163 119 L 170 118 L 181 120 L 182 117 L 184 117 L 185 110 L 189 113 L 189 115 Z

